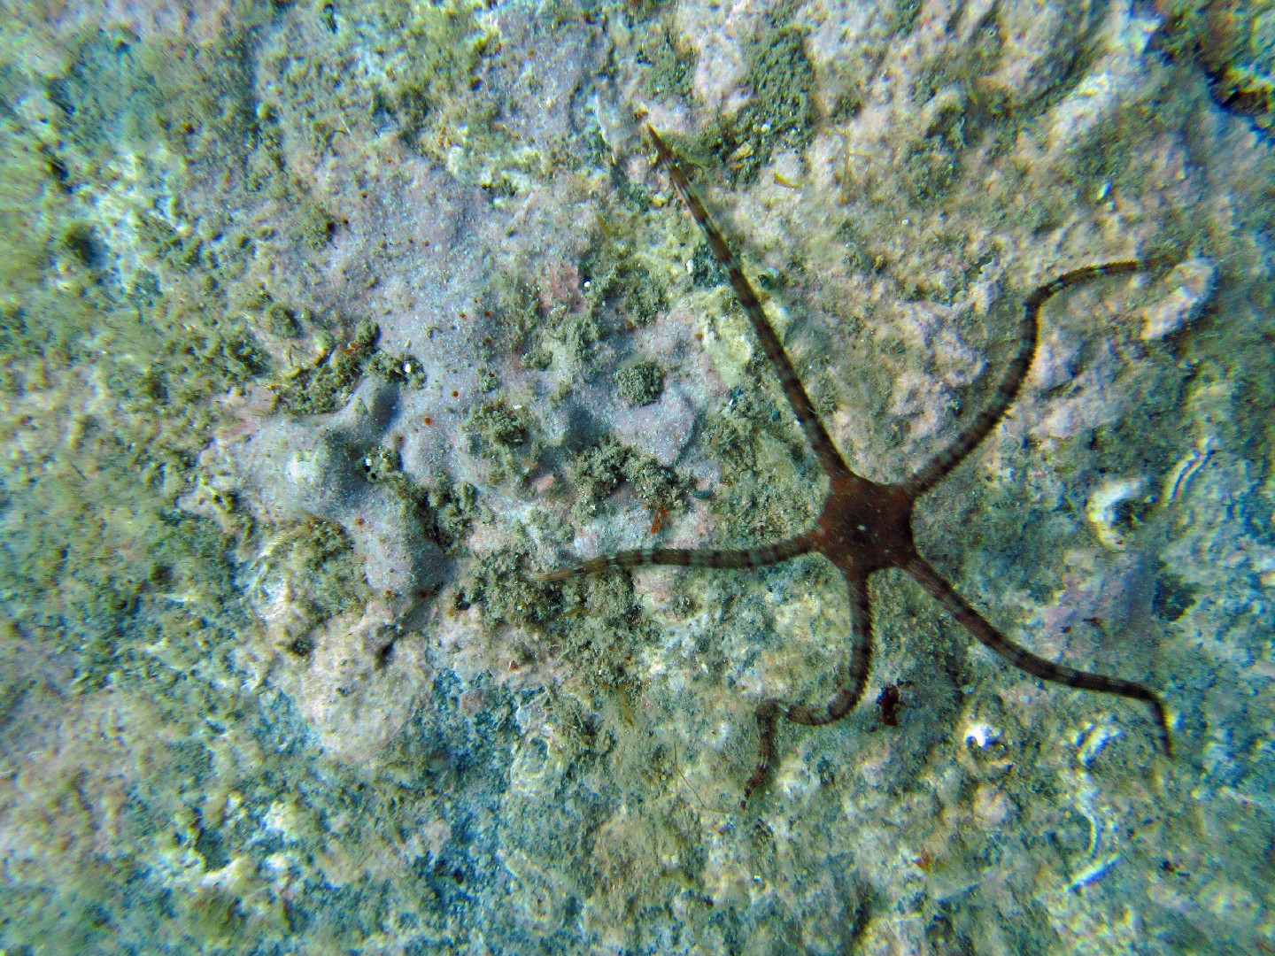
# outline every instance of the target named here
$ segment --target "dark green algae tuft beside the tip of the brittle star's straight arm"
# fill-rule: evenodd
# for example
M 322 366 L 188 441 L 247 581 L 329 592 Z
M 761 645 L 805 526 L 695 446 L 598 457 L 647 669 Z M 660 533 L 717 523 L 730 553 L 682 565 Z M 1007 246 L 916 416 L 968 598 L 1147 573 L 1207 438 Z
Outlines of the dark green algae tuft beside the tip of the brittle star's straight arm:
M 756 180 L 775 149 L 801 150 L 812 138 L 815 68 L 801 31 L 780 11 L 748 45 L 743 85 L 752 96 L 720 121 L 715 144 L 734 185 Z

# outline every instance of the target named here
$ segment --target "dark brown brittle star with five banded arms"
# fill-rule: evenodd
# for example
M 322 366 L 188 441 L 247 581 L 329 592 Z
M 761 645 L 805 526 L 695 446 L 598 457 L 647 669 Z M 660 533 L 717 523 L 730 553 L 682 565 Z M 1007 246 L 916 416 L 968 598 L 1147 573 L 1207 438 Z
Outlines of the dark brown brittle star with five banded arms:
M 746 807 L 752 793 L 765 783 L 770 774 L 775 753 L 775 729 L 780 716 L 796 724 L 821 727 L 845 716 L 859 699 L 867 684 L 868 669 L 872 662 L 872 608 L 868 598 L 868 579 L 877 571 L 898 567 L 912 577 L 935 598 L 958 622 L 982 641 L 987 648 L 1000 654 L 1020 670 L 1025 670 L 1042 681 L 1066 684 L 1084 691 L 1114 693 L 1132 697 L 1151 705 L 1159 724 L 1160 743 L 1168 756 L 1173 756 L 1169 737 L 1168 715 L 1159 696 L 1144 684 L 1119 677 L 1107 677 L 1088 670 L 1077 670 L 1066 664 L 1056 664 L 1037 656 L 1015 644 L 993 627 L 975 611 L 955 589 L 917 552 L 912 534 L 912 512 L 917 500 L 933 488 L 945 475 L 959 465 L 988 433 L 1000 424 L 1005 413 L 1014 404 L 1023 387 L 1028 370 L 1037 352 L 1037 329 L 1040 307 L 1063 289 L 1100 275 L 1119 275 L 1132 273 L 1148 265 L 1141 260 L 1123 260 L 1086 265 L 1072 269 L 1031 292 L 1023 307 L 1019 328 L 1019 349 L 1014 361 L 1001 375 L 1001 381 L 991 403 L 946 449 L 933 455 L 910 478 L 898 483 L 873 482 L 850 470 L 827 430 L 820 421 L 797 377 L 792 361 L 784 351 L 779 337 L 766 319 L 761 301 L 740 268 L 740 261 L 731 251 L 720 229 L 709 217 L 704 203 L 691 187 L 690 178 L 673 152 L 660 139 L 654 129 L 646 126 L 646 134 L 655 147 L 657 162 L 668 171 L 673 187 L 682 198 L 695 222 L 708 240 L 713 255 L 727 270 L 731 287 L 752 322 L 752 329 L 761 340 L 761 348 L 779 377 L 788 404 L 797 416 L 797 422 L 806 435 L 820 468 L 829 481 L 827 497 L 815 528 L 774 544 L 741 551 L 680 549 L 680 548 L 641 548 L 621 551 L 617 554 L 598 557 L 574 567 L 564 567 L 541 575 L 542 580 L 562 580 L 578 575 L 589 575 L 611 567 L 643 567 L 646 565 L 678 565 L 690 567 L 765 567 L 780 561 L 819 552 L 840 570 L 845 579 L 850 599 L 850 659 L 841 668 L 836 692 L 821 706 L 808 704 L 789 704 L 769 697 L 757 707 L 757 764 L 743 788 L 741 808 Z

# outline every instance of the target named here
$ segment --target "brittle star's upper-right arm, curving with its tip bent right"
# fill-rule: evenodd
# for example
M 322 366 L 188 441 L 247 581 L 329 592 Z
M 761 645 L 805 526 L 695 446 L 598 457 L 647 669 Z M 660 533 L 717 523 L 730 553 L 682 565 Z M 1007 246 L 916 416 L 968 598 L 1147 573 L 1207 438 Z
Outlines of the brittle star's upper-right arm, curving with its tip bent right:
M 1072 269 L 1070 273 L 1063 273 L 1028 296 L 1026 302 L 1023 303 L 1023 321 L 1019 324 L 1019 353 L 1001 375 L 1001 381 L 996 386 L 996 394 L 992 395 L 991 403 L 979 412 L 978 417 L 969 423 L 965 431 L 956 436 L 951 445 L 929 459 L 912 478 L 904 482 L 903 487 L 907 489 L 908 496 L 917 498 L 935 487 L 943 475 L 956 468 L 970 451 L 978 447 L 979 442 L 1005 417 L 1005 412 L 1014 404 L 1014 400 L 1019 396 L 1019 391 L 1023 390 L 1023 381 L 1026 379 L 1031 361 L 1035 358 L 1039 315 L 1046 302 L 1070 286 L 1076 286 L 1099 275 L 1119 275 L 1122 273 L 1137 272 L 1142 268 L 1145 268 L 1145 263 L 1139 260 L 1086 265 L 1080 269 Z

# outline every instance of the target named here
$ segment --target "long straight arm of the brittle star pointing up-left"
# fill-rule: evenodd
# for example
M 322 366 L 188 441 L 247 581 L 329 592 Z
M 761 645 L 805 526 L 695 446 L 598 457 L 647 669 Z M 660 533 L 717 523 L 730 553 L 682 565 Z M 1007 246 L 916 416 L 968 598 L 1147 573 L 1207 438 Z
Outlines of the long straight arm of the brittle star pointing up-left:
M 704 203 L 700 201 L 699 195 L 691 187 L 691 181 L 673 154 L 673 150 L 664 144 L 664 140 L 659 138 L 659 134 L 649 124 L 646 134 L 655 145 L 659 164 L 668 171 L 668 177 L 673 181 L 673 187 L 682 198 L 686 208 L 690 209 L 695 222 L 699 223 L 704 237 L 709 242 L 709 249 L 713 250 L 714 257 L 727 270 L 727 275 L 731 278 L 731 288 L 734 289 L 736 298 L 740 300 L 740 305 L 748 316 L 748 321 L 752 322 L 752 329 L 761 340 L 761 349 L 766 353 L 766 358 L 775 370 L 775 375 L 779 376 L 779 385 L 783 387 L 784 395 L 788 398 L 788 404 L 792 405 L 793 413 L 797 416 L 798 424 L 801 424 L 802 431 L 806 433 L 806 441 L 810 442 L 811 449 L 819 458 L 819 464 L 824 469 L 824 474 L 829 478 L 845 474 L 849 469 L 845 467 L 845 461 L 841 460 L 841 455 L 836 451 L 836 446 L 829 437 L 827 430 L 824 428 L 824 423 L 819 421 L 815 405 L 797 377 L 797 371 L 793 368 L 788 353 L 779 342 L 779 337 L 775 335 L 775 330 L 770 328 L 770 321 L 761 308 L 761 300 L 757 298 L 757 293 L 754 292 L 752 286 L 743 274 L 743 269 L 740 268 L 740 260 L 736 259 L 722 231 L 713 222 Z

